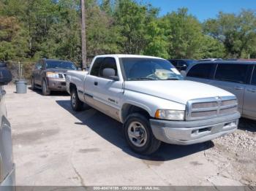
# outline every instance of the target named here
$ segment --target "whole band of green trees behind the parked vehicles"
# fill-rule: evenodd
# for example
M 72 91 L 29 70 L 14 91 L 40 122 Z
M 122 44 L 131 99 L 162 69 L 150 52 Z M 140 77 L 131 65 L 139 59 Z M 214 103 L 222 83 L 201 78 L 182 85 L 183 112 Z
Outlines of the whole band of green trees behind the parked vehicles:
M 200 23 L 187 9 L 159 17 L 135 0 L 87 0 L 88 55 L 128 53 L 162 58 L 256 57 L 256 15 L 219 12 Z M 0 60 L 81 61 L 80 0 L 0 0 Z

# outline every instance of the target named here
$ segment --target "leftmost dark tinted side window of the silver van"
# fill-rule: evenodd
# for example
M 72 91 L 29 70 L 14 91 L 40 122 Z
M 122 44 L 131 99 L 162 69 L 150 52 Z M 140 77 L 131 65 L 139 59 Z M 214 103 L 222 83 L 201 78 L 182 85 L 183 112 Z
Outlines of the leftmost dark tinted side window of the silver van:
M 211 69 L 214 64 L 212 63 L 199 63 L 192 67 L 187 73 L 187 77 L 198 77 L 208 79 L 211 74 Z

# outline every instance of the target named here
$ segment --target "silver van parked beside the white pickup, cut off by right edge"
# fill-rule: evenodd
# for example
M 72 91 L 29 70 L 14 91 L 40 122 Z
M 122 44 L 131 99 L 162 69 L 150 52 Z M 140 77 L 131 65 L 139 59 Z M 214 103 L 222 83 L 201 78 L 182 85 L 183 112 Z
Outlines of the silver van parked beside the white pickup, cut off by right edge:
M 242 117 L 256 120 L 256 62 L 200 61 L 189 65 L 186 79 L 214 85 L 236 95 Z

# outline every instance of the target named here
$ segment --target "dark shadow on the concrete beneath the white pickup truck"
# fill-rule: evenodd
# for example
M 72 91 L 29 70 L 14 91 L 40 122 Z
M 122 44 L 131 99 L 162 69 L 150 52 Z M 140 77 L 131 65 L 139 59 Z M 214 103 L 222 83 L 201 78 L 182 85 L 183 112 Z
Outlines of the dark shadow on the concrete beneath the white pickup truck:
M 137 155 L 127 146 L 122 132 L 122 124 L 120 122 L 117 122 L 116 120 L 113 120 L 107 115 L 102 114 L 101 112 L 98 112 L 92 108 L 86 108 L 83 112 L 74 112 L 72 111 L 69 101 L 60 100 L 56 102 L 80 121 L 75 122 L 75 124 L 80 125 L 81 128 L 88 126 L 91 128 L 91 130 L 94 130 L 94 132 L 99 134 L 99 136 L 101 136 L 103 139 L 109 141 L 111 144 L 116 145 L 116 147 L 119 147 L 124 152 L 127 152 L 127 154 L 132 155 L 133 157 L 138 157 L 142 160 L 158 162 L 174 160 L 214 147 L 214 143 L 212 141 L 188 146 L 163 143 L 159 150 L 154 153 L 154 155 Z

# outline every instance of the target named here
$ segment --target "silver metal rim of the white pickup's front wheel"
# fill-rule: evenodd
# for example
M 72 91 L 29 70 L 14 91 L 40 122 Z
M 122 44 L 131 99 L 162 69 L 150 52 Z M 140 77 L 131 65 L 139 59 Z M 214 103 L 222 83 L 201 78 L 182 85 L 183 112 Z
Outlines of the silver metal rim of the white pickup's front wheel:
M 143 147 L 147 141 L 146 128 L 140 122 L 132 122 L 128 127 L 129 140 L 136 147 Z

